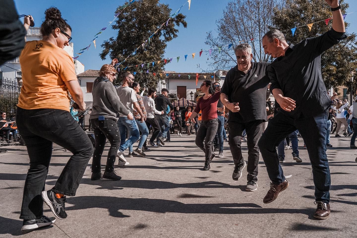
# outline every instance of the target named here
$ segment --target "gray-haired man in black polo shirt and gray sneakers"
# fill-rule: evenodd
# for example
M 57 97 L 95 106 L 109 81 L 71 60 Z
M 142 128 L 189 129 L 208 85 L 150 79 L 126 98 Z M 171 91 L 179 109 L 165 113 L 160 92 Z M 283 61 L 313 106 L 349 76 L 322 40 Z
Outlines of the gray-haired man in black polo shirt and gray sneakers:
M 221 102 L 229 113 L 229 147 L 234 160 L 233 180 L 242 176 L 246 162 L 242 156 L 241 136 L 247 132 L 248 162 L 246 191 L 258 188 L 258 140 L 262 134 L 262 122 L 267 120 L 266 90 L 269 79 L 266 62 L 252 62 L 252 48 L 249 44 L 237 45 L 234 49 L 237 66 L 228 71 L 221 89 Z M 238 105 L 239 103 L 239 105 Z

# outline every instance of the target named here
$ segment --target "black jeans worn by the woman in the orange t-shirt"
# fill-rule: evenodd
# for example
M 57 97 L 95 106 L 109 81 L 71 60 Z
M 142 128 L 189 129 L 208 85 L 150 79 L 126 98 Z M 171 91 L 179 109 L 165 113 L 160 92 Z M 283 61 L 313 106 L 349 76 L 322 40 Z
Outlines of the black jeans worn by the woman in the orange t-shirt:
M 41 192 L 45 189 L 52 142 L 73 153 L 52 188 L 66 196 L 75 196 L 93 154 L 93 145 L 72 115 L 64 110 L 17 107 L 16 122 L 30 157 L 20 219 L 35 219 L 43 215 Z

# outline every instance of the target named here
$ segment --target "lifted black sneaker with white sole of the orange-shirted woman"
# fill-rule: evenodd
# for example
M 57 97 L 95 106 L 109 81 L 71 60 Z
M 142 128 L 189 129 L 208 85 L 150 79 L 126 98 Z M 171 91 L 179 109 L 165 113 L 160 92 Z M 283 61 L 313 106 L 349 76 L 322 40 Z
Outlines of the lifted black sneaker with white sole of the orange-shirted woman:
M 63 198 L 56 198 L 56 193 L 52 190 L 42 191 L 41 196 L 57 218 L 65 219 L 67 217 L 67 213 L 65 212 L 66 196 Z

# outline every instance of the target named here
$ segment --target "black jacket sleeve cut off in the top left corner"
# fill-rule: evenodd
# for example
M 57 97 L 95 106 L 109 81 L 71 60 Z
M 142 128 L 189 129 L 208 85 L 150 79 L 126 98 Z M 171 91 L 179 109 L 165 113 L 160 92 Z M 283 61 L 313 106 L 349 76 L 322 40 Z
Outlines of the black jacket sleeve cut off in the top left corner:
M 21 54 L 26 30 L 19 20 L 13 0 L 2 0 L 0 7 L 0 65 Z

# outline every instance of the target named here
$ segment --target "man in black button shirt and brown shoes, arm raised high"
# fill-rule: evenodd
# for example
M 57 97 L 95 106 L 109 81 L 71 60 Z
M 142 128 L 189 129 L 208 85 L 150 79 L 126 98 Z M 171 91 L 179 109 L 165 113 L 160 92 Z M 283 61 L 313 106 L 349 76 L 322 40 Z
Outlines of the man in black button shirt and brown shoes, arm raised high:
M 270 180 L 264 203 L 274 201 L 285 190 L 286 181 L 275 147 L 291 132 L 299 130 L 305 140 L 312 165 L 317 209 L 313 215 L 326 219 L 330 215 L 330 169 L 326 156 L 328 107 L 332 101 L 326 93 L 321 75 L 321 54 L 345 39 L 345 24 L 338 0 L 326 0 L 331 6 L 332 29 L 321 36 L 288 45 L 281 31 L 270 30 L 262 39 L 265 53 L 277 58 L 268 67 L 270 90 L 280 111 L 269 121 L 259 148 Z

